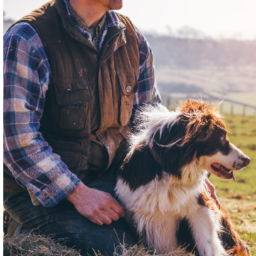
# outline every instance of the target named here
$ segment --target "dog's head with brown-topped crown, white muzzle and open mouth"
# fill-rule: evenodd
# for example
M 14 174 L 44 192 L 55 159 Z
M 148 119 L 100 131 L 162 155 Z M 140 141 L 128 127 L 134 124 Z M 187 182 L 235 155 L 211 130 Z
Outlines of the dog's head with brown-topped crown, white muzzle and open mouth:
M 228 140 L 228 131 L 217 108 L 200 100 L 188 100 L 169 112 L 154 107 L 139 114 L 142 133 L 154 159 L 166 173 L 181 178 L 184 167 L 196 161 L 221 179 L 234 178 L 250 159 Z M 136 144 L 136 143 L 135 143 Z

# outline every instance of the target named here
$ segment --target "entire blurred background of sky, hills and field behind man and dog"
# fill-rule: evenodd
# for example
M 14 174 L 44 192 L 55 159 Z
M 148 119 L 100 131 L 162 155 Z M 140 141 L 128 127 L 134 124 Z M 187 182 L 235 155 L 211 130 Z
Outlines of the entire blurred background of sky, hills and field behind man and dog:
M 4 31 L 45 0 L 4 0 Z M 165 105 L 223 101 L 229 138 L 251 158 L 236 182 L 210 177 L 222 206 L 256 255 L 256 1 L 124 0 L 154 53 Z

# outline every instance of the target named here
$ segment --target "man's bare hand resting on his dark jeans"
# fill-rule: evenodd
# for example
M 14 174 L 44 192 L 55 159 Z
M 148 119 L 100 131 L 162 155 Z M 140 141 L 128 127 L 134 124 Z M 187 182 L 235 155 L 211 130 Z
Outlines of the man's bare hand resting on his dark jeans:
M 78 213 L 97 225 L 110 225 L 112 220 L 124 217 L 124 208 L 110 193 L 88 188 L 82 181 L 65 198 L 73 203 Z

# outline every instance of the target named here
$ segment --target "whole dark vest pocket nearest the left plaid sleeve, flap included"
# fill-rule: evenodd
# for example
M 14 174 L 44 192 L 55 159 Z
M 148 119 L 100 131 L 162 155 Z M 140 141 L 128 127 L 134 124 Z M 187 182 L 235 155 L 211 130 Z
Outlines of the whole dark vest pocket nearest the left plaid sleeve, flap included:
M 90 134 L 92 90 L 84 80 L 58 80 L 55 95 L 60 107 L 60 129 L 85 130 Z

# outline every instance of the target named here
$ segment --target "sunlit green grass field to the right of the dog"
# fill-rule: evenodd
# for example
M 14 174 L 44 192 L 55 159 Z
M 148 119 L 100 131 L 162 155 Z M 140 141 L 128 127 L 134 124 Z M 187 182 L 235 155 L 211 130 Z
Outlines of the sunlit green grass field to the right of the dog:
M 251 162 L 246 169 L 236 171 L 234 181 L 220 181 L 210 176 L 225 210 L 228 210 L 242 239 L 256 255 L 256 118 L 226 116 L 230 142 L 238 146 Z

